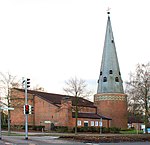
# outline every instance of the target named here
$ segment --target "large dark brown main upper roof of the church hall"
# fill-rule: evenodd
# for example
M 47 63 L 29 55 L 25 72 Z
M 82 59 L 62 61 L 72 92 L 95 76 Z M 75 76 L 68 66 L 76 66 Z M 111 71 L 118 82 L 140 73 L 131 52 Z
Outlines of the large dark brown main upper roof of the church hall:
M 18 89 L 18 88 L 14 88 L 14 89 L 24 92 L 24 89 Z M 41 99 L 48 101 L 54 105 L 60 105 L 61 100 L 64 98 L 68 98 L 68 99 L 72 100 L 73 106 L 75 106 L 75 104 L 76 104 L 76 98 L 73 96 L 40 92 L 40 91 L 35 91 L 35 90 L 28 90 L 28 93 L 36 95 L 36 96 L 40 97 Z M 96 108 L 96 106 L 94 106 L 93 102 L 88 101 L 84 98 L 80 98 L 80 97 L 78 98 L 78 106 Z

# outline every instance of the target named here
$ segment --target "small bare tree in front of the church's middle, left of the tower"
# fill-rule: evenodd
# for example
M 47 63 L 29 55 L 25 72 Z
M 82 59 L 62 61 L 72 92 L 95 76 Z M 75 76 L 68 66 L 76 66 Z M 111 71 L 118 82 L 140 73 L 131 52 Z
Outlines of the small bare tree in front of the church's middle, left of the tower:
M 75 135 L 77 135 L 77 120 L 78 120 L 78 101 L 80 97 L 87 97 L 89 96 L 90 92 L 86 90 L 87 84 L 85 82 L 85 80 L 82 79 L 77 79 L 75 78 L 71 78 L 68 81 L 65 82 L 66 83 L 66 87 L 64 88 L 64 91 L 68 94 L 68 95 L 73 95 L 76 99 L 75 99 Z

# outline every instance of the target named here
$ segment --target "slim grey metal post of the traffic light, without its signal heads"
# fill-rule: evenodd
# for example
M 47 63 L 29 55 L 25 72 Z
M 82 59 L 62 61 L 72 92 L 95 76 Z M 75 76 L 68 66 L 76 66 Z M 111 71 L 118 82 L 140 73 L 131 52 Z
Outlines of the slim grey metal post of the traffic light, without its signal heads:
M 27 80 L 25 79 L 25 105 L 28 104 Z M 25 114 L 25 139 L 28 140 L 28 114 Z

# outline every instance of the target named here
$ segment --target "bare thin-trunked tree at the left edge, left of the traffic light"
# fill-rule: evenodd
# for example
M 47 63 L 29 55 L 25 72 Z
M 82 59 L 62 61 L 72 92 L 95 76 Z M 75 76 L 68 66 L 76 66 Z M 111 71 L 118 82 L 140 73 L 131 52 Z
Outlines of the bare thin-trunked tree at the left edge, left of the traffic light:
M 0 72 L 1 98 L 8 108 L 11 107 L 11 89 L 19 86 L 21 85 L 16 81 L 16 76 L 12 76 L 9 72 L 6 74 Z M 8 110 L 8 134 L 10 134 L 10 110 Z

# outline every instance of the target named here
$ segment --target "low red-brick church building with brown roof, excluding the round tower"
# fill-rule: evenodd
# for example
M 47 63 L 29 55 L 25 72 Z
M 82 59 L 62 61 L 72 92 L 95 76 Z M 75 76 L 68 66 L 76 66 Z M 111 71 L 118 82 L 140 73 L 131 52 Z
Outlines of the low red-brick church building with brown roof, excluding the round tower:
M 14 108 L 11 111 L 11 126 L 23 126 L 25 124 L 24 89 L 14 88 L 11 94 L 11 104 Z M 97 107 L 91 101 L 80 97 L 35 90 L 28 90 L 28 104 L 34 107 L 33 113 L 28 114 L 28 125 L 44 126 L 46 130 L 50 130 L 52 124 L 74 128 L 76 101 L 78 101 L 78 127 L 98 127 L 100 120 L 103 120 L 104 127 L 110 127 L 111 118 L 98 114 Z

